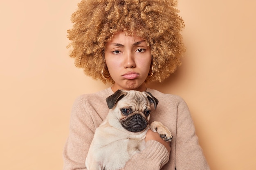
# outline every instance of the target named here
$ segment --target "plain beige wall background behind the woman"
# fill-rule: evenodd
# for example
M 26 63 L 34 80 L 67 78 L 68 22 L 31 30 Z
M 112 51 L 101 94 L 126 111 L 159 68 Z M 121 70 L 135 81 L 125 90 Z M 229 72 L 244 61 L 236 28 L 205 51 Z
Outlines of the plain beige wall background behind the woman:
M 0 167 L 59 170 L 70 110 L 109 87 L 68 57 L 66 30 L 79 0 L 0 2 Z M 256 169 L 256 2 L 180 0 L 186 58 L 163 83 L 180 95 L 212 170 Z

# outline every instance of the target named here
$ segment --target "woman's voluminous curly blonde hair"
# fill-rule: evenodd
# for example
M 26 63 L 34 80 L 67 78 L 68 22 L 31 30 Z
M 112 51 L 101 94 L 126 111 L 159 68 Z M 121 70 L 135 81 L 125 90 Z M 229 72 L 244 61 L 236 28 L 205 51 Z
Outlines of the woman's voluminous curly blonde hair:
M 176 0 L 82 0 L 71 17 L 74 25 L 67 31 L 70 57 L 86 75 L 114 83 L 104 50 L 115 33 L 124 31 L 145 39 L 150 47 L 154 74 L 145 82 L 161 82 L 177 69 L 185 52 L 180 34 L 184 22 L 176 5 Z M 102 72 L 110 78 L 103 78 Z

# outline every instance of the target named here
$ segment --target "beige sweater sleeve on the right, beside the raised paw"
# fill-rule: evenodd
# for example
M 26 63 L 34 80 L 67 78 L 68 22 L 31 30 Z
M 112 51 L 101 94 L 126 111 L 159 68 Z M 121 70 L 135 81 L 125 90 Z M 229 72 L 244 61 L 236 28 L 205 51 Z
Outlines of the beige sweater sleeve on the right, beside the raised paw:
M 175 168 L 177 170 L 210 169 L 198 143 L 189 109 L 180 97 L 177 98 Z

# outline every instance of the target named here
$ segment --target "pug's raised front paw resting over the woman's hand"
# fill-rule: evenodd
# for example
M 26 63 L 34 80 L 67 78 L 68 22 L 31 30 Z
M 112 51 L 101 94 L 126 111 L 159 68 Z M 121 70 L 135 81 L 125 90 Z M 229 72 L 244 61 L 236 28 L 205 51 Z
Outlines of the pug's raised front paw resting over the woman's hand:
M 171 142 L 173 139 L 173 136 L 171 135 L 169 129 L 166 126 L 164 126 L 161 122 L 152 122 L 150 124 L 150 129 L 153 132 L 157 132 L 160 135 L 160 137 L 166 142 Z

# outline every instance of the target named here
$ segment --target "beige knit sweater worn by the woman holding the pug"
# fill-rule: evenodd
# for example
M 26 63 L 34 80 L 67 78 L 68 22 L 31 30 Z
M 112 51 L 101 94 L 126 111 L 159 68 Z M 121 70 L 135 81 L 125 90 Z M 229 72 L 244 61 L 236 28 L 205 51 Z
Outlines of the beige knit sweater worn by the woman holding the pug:
M 209 170 L 198 144 L 189 109 L 179 96 L 147 89 L 159 100 L 157 109 L 151 109 L 150 122 L 162 122 L 170 129 L 174 139 L 171 154 L 157 141 L 150 140 L 146 148 L 133 155 L 124 170 Z M 106 118 L 106 98 L 111 88 L 94 94 L 79 96 L 74 102 L 70 118 L 70 134 L 64 148 L 63 170 L 86 170 L 85 158 L 95 129 Z

